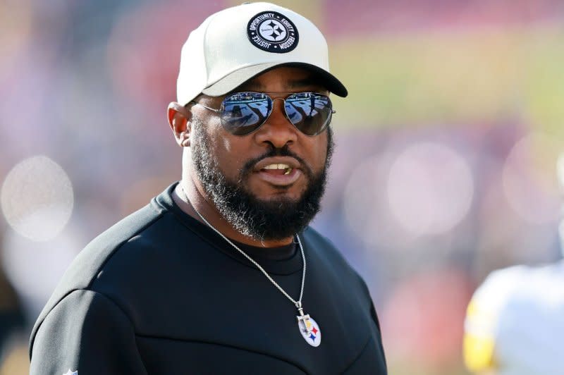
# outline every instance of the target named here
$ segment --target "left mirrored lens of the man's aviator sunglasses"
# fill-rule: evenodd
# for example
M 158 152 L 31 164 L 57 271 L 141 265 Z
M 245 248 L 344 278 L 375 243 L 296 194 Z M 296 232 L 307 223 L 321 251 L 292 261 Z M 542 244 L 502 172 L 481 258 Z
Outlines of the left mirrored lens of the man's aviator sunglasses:
M 238 92 L 223 99 L 221 122 L 228 132 L 246 135 L 269 116 L 272 100 L 260 92 Z

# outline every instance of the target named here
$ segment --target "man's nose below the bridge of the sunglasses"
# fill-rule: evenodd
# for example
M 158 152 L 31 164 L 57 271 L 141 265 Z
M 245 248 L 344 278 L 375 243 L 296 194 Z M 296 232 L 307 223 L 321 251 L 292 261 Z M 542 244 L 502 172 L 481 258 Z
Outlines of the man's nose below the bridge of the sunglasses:
M 272 106 L 268 120 L 255 133 L 256 141 L 260 145 L 271 143 L 276 148 L 293 144 L 298 139 L 299 130 L 286 118 L 284 100 L 274 98 Z

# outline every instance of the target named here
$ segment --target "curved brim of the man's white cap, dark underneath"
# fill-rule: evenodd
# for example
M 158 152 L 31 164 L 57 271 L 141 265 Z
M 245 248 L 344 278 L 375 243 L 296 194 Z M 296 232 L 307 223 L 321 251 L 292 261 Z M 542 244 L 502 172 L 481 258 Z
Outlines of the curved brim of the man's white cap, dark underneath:
M 219 97 L 235 90 L 237 87 L 247 82 L 247 80 L 255 78 L 259 74 L 266 73 L 266 71 L 280 66 L 295 66 L 312 71 L 319 78 L 321 85 L 324 85 L 329 92 L 332 92 L 339 97 L 346 97 L 348 95 L 346 87 L 334 75 L 329 73 L 327 70 L 308 63 L 262 63 L 247 66 L 226 75 L 213 85 L 206 87 L 202 90 L 202 93 L 210 97 Z

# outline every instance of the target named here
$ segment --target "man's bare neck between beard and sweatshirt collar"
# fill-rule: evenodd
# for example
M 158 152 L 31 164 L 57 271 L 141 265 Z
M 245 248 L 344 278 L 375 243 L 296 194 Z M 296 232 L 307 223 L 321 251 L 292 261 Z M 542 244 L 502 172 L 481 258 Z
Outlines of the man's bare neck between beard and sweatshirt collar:
M 221 216 L 213 202 L 202 192 L 202 187 L 192 178 L 180 180 L 180 183 L 176 185 L 174 193 L 173 199 L 186 214 L 207 225 L 207 223 L 200 219 L 200 215 L 197 214 L 199 212 L 211 226 L 219 230 L 227 238 L 231 238 L 231 240 L 244 243 L 245 245 L 265 248 L 281 247 L 293 241 L 292 237 L 284 238 L 283 240 L 257 240 L 256 238 L 241 234 Z

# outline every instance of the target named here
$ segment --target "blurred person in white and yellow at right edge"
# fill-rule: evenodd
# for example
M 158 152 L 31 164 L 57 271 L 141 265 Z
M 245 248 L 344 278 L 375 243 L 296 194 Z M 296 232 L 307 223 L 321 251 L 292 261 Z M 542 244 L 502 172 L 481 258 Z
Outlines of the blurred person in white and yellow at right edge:
M 558 161 L 564 191 L 564 154 Z M 564 254 L 564 221 L 560 223 Z M 468 305 L 464 357 L 475 374 L 564 374 L 564 260 L 492 272 Z

